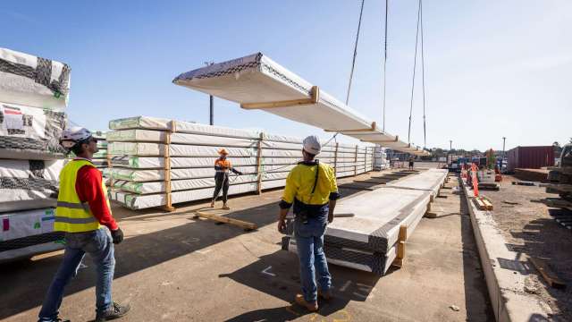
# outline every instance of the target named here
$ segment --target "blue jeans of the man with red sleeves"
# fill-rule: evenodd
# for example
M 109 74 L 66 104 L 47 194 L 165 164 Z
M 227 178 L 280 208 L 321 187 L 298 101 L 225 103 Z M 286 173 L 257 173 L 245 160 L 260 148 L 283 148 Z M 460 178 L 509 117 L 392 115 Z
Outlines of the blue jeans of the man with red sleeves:
M 86 233 L 66 233 L 63 262 L 55 273 L 47 290 L 46 299 L 39 311 L 39 321 L 55 321 L 62 305 L 63 288 L 71 277 L 78 274 L 80 263 L 88 253 L 97 267 L 96 307 L 104 312 L 112 306 L 111 283 L 114 280 L 114 243 L 106 227 Z

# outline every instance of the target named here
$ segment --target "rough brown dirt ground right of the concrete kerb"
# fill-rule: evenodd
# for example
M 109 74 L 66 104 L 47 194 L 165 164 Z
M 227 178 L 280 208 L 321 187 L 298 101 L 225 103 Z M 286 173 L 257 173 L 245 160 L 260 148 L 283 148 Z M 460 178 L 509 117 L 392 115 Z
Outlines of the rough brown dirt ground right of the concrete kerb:
M 504 176 L 500 191 L 481 191 L 492 201 L 492 216 L 501 229 L 507 247 L 516 251 L 529 274 L 526 292 L 542 297 L 557 320 L 572 321 L 572 233 L 559 225 L 551 213 L 568 210 L 548 208 L 531 200 L 556 197 L 538 186 L 513 185 L 518 181 Z M 548 286 L 528 261 L 528 257 L 546 258 L 546 262 L 568 284 L 565 291 Z

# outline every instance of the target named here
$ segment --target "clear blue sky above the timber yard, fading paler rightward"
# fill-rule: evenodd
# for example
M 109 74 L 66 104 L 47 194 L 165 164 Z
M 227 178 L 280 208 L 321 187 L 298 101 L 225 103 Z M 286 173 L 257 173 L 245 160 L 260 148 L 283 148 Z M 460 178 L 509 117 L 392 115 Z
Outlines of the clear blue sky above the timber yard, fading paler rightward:
M 208 123 L 208 97 L 172 79 L 206 61 L 259 51 L 344 100 L 359 4 L 10 1 L 0 4 L 0 46 L 70 64 L 67 111 L 74 123 L 106 129 L 111 119 L 139 114 Z M 402 138 L 408 131 L 416 5 L 390 1 L 386 130 Z M 378 123 L 383 11 L 383 1 L 366 0 L 349 102 Z M 507 148 L 569 140 L 570 12 L 567 0 L 425 1 L 427 146 L 448 148 L 453 140 L 455 148 L 501 149 L 503 136 Z M 420 98 L 416 93 L 411 135 L 422 145 Z M 214 123 L 328 138 L 319 129 L 222 99 L 215 99 Z

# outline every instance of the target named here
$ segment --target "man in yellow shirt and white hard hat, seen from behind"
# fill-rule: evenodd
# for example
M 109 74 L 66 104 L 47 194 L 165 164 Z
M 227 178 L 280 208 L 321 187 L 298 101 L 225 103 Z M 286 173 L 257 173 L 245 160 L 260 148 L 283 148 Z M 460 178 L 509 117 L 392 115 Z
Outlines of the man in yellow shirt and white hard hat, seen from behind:
M 340 198 L 334 169 L 315 159 L 321 150 L 320 140 L 314 135 L 304 139 L 304 161 L 288 174 L 278 218 L 278 231 L 284 232 L 288 210 L 294 206 L 294 237 L 302 284 L 302 293 L 297 294 L 295 300 L 310 311 L 318 309 L 318 295 L 325 300 L 332 297 L 332 276 L 324 254 L 324 234 L 326 225 L 333 221 L 333 209 Z

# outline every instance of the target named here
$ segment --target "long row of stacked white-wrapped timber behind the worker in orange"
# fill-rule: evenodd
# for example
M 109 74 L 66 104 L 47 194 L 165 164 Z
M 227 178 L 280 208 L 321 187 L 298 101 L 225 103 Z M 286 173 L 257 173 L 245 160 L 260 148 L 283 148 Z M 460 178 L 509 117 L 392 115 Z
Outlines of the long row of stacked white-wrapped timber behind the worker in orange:
M 225 148 L 243 175 L 231 175 L 229 195 L 283 187 L 301 160 L 299 138 L 220 126 L 136 116 L 111 121 L 107 133 L 111 198 L 127 208 L 172 208 L 173 204 L 210 199 L 214 160 Z M 369 149 L 371 150 L 371 148 Z M 338 176 L 371 171 L 373 152 L 359 146 L 329 143 L 322 162 Z

